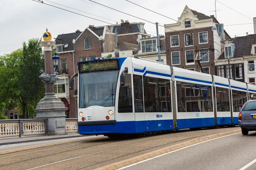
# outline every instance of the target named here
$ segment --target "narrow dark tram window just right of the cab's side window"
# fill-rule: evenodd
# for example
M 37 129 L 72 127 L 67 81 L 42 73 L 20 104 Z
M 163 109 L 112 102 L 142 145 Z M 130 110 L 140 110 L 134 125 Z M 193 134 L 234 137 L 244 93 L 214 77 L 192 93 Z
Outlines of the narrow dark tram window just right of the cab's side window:
M 134 107 L 135 112 L 144 112 L 143 106 L 143 85 L 145 81 L 142 81 L 142 76 L 133 75 L 134 79 Z M 143 80 L 145 77 L 143 77 Z

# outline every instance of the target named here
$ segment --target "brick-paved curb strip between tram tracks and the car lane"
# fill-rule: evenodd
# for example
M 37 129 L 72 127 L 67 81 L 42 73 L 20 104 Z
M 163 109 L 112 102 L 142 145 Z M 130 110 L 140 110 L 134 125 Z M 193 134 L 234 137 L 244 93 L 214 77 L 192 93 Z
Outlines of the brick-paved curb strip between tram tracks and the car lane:
M 162 149 L 152 151 L 150 153 L 145 153 L 143 155 L 136 156 L 136 157 L 131 158 L 131 159 L 126 159 L 126 160 L 119 161 L 119 162 L 116 162 L 116 163 L 113 163 L 113 164 L 109 164 L 109 165 L 106 165 L 104 167 L 97 168 L 95 170 L 116 170 L 116 169 L 119 169 L 121 167 L 125 167 L 125 166 L 128 166 L 130 164 L 134 164 L 134 163 L 137 163 L 139 161 L 143 161 L 145 159 L 149 159 L 149 158 L 152 158 L 152 157 L 155 157 L 155 156 L 158 156 L 158 155 L 162 155 L 164 153 L 168 153 L 168 152 L 171 152 L 171 151 L 174 151 L 174 150 L 177 150 L 177 149 L 180 149 L 180 148 L 192 145 L 192 144 L 201 143 L 201 142 L 204 142 L 204 141 L 207 141 L 207 140 L 210 140 L 210 139 L 215 139 L 215 138 L 218 138 L 218 137 L 221 137 L 221 136 L 227 136 L 227 135 L 231 135 L 231 134 L 234 134 L 234 133 L 240 133 L 240 132 L 241 132 L 241 130 L 233 130 L 233 131 L 229 131 L 229 132 L 214 134 L 214 135 L 211 135 L 211 136 L 205 136 L 205 137 L 198 138 L 198 139 L 193 139 L 193 140 L 183 142 L 183 143 L 180 143 L 180 144 L 175 144 L 175 145 L 171 145 L 169 147 L 164 147 Z

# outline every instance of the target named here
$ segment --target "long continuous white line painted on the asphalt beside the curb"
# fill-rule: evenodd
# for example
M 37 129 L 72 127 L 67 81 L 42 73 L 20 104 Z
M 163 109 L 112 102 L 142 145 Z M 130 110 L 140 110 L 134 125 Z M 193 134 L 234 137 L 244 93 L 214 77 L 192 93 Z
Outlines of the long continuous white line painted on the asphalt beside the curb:
M 241 132 L 239 132 L 239 133 L 241 133 Z M 234 134 L 231 134 L 231 135 L 235 135 L 235 134 L 238 134 L 238 133 L 234 133 Z M 226 135 L 226 136 L 231 136 L 231 135 Z M 226 136 L 221 136 L 221 137 L 214 138 L 214 139 L 210 139 L 210 140 L 207 140 L 207 141 L 204 141 L 204 142 L 209 142 L 209 141 L 212 141 L 212 140 L 215 140 L 215 139 L 220 139 L 220 138 L 223 138 L 223 137 L 226 137 Z M 149 160 L 151 160 L 151 159 L 155 159 L 155 158 L 158 158 L 158 157 L 160 157 L 160 156 L 165 156 L 165 155 L 167 155 L 167 154 L 169 154 L 169 153 L 174 153 L 174 152 L 176 152 L 176 151 L 179 151 L 179 150 L 182 150 L 182 149 L 186 149 L 186 148 L 188 148 L 188 147 L 192 147 L 192 146 L 195 146 L 195 145 L 197 145 L 197 144 L 202 144 L 202 143 L 204 143 L 204 142 L 192 144 L 192 145 L 189 145 L 189 146 L 186 146 L 186 147 L 177 149 L 177 150 L 173 150 L 173 151 L 168 152 L 168 153 L 164 153 L 164 154 L 162 154 L 162 155 L 154 156 L 154 157 L 152 157 L 152 158 L 145 159 L 145 160 L 143 160 L 143 161 L 139 161 L 139 162 L 134 163 L 134 164 L 130 164 L 130 165 L 126 166 L 126 167 L 121 167 L 121 168 L 119 168 L 119 169 L 117 169 L 117 170 L 123 170 L 123 169 L 125 169 L 125 168 L 128 168 L 128 167 L 131 167 L 131 166 L 134 166 L 134 165 L 143 163 L 143 162 L 145 162 L 145 161 L 149 161 Z M 256 162 L 256 159 L 253 160 L 253 161 Z M 253 163 L 254 163 L 254 162 L 253 162 Z M 251 162 L 250 162 L 250 163 L 251 163 Z M 250 163 L 249 163 L 249 164 L 250 164 Z M 245 166 L 244 166 L 244 167 L 245 167 Z M 240 170 L 244 170 L 244 169 L 240 169 Z

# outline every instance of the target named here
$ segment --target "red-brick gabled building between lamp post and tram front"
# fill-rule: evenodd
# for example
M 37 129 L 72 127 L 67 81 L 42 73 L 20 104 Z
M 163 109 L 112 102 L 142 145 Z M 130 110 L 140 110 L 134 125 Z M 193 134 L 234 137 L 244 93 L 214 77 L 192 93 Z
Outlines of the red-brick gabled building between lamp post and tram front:
M 122 42 L 137 44 L 137 40 L 142 37 L 150 37 L 144 30 L 144 23 L 129 23 L 128 21 L 110 26 L 90 25 L 83 32 L 77 30 L 75 33 L 58 35 L 54 49 L 60 57 L 60 69 L 59 80 L 55 84 L 55 93 L 69 108 L 67 117 L 77 117 L 77 77 L 74 90 L 69 91 L 68 88 L 70 77 L 78 71 L 77 62 L 101 57 L 102 53 L 113 51 Z

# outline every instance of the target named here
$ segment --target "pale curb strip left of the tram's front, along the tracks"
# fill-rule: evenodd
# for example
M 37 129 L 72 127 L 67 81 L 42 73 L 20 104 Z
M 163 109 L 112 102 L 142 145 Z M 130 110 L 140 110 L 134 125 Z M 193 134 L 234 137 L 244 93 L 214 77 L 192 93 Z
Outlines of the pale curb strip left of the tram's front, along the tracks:
M 8 153 L 14 153 L 14 152 L 20 152 L 20 151 L 23 151 L 23 150 L 36 149 L 36 148 L 41 148 L 41 147 L 54 146 L 54 145 L 59 145 L 59 144 L 81 142 L 81 141 L 86 141 L 88 139 L 98 139 L 98 138 L 101 138 L 101 137 L 94 137 L 94 138 L 87 138 L 87 139 L 77 139 L 77 140 L 72 140 L 72 141 L 56 142 L 56 143 L 51 143 L 51 144 L 43 144 L 43 145 L 38 145 L 38 146 L 25 147 L 25 148 L 20 148 L 20 149 L 15 149 L 15 150 L 7 150 L 7 151 L 0 152 L 0 155 L 4 155 L 4 154 L 8 154 Z

